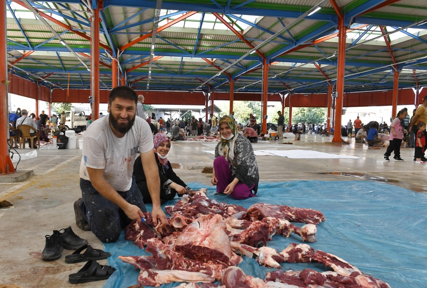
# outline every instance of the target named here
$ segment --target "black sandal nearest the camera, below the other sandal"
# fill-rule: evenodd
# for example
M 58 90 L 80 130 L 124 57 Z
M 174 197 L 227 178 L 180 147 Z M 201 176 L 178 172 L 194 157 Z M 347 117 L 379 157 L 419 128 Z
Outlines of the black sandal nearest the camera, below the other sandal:
M 89 260 L 77 273 L 68 275 L 68 281 L 72 284 L 86 283 L 108 279 L 116 271 L 108 265 L 100 265 L 95 260 Z

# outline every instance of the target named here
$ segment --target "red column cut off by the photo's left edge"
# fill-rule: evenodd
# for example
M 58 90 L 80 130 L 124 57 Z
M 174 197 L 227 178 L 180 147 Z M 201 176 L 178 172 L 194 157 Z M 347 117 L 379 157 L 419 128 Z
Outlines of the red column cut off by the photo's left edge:
M 6 58 L 6 0 L 0 0 L 0 175 L 15 173 L 9 157 L 8 66 Z

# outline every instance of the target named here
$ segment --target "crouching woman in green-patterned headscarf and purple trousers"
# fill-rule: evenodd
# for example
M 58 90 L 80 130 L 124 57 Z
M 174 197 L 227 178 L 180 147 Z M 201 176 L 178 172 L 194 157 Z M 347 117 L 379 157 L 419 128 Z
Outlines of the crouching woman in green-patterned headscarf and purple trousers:
M 254 197 L 259 174 L 251 142 L 237 132 L 229 115 L 220 119 L 219 127 L 220 142 L 215 149 L 211 183 L 217 186 L 218 193 L 234 199 Z

